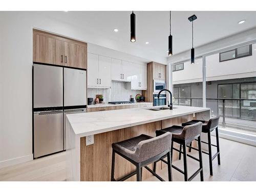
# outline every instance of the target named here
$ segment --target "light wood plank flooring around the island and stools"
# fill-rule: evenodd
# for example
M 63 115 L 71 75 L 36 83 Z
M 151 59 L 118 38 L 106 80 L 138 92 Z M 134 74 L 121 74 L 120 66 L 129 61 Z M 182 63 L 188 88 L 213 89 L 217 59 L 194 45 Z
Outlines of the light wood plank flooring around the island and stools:
M 212 137 L 212 141 L 215 141 L 214 137 Z M 205 181 L 256 181 L 256 147 L 220 138 L 220 150 L 221 165 L 218 165 L 216 158 L 213 162 L 214 176 L 209 175 L 208 156 L 203 154 Z M 191 154 L 198 157 L 194 150 Z M 190 176 L 198 169 L 199 163 L 189 157 L 187 160 Z M 173 164 L 183 169 L 182 159 L 174 161 Z M 0 181 L 65 181 L 65 166 L 65 152 L 62 152 L 1 168 Z M 144 171 L 147 172 L 143 168 Z M 158 174 L 167 180 L 167 169 L 162 169 Z M 173 180 L 183 181 L 183 179 L 183 175 L 173 169 Z M 158 179 L 151 177 L 146 181 L 158 181 Z M 200 181 L 200 175 L 196 176 L 193 181 Z

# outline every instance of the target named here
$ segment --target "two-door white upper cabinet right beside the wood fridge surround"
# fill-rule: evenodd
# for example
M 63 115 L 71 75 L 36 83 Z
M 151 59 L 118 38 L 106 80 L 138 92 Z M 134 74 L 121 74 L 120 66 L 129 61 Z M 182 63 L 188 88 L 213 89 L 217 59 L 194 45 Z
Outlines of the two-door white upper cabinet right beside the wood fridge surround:
M 111 58 L 88 53 L 88 88 L 111 88 Z

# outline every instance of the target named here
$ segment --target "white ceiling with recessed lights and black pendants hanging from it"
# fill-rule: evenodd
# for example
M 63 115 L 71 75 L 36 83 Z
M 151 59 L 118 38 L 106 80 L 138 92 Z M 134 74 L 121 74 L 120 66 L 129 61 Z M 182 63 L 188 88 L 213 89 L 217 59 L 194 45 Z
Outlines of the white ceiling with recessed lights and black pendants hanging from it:
M 130 42 L 131 11 L 70 11 L 45 12 L 48 17 L 61 20 L 88 31 L 95 31 L 106 43 L 147 59 L 167 57 L 169 35 L 168 11 L 135 11 L 136 42 Z M 196 14 L 194 47 L 256 27 L 256 12 L 250 11 L 174 11 L 172 12 L 173 53 L 191 48 L 191 23 L 187 19 Z M 244 24 L 238 22 L 246 19 Z M 119 29 L 116 33 L 114 28 Z M 86 32 L 86 31 L 85 31 Z M 148 41 L 150 44 L 145 44 Z M 88 42 L 93 42 L 88 39 Z M 104 46 L 104 44 L 102 43 Z M 100 46 L 102 46 L 100 45 Z M 132 50 L 132 51 L 131 51 Z

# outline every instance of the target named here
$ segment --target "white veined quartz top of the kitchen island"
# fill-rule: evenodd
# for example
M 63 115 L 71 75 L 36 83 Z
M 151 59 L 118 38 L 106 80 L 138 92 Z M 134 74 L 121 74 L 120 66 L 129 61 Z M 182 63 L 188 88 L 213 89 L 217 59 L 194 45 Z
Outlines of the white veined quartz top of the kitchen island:
M 160 106 L 150 107 L 159 108 Z M 166 106 L 167 107 L 167 106 Z M 150 111 L 150 108 L 134 108 L 91 113 L 68 114 L 68 120 L 78 137 L 95 135 L 125 127 L 179 117 L 210 110 L 194 106 L 175 106 L 173 110 Z

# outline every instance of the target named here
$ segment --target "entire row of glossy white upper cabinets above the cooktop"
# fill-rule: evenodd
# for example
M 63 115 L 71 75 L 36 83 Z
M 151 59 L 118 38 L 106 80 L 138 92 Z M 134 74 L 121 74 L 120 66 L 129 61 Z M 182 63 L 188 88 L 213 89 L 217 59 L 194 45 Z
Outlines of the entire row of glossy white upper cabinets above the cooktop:
M 111 88 L 111 81 L 131 82 L 132 90 L 147 89 L 147 66 L 88 53 L 88 88 Z

